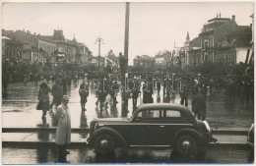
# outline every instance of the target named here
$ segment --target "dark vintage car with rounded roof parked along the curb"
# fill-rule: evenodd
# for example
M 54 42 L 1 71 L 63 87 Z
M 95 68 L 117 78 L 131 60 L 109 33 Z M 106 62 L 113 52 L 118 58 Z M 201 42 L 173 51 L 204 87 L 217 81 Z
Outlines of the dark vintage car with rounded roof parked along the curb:
M 131 118 L 96 119 L 90 132 L 88 142 L 101 154 L 117 147 L 168 145 L 190 155 L 216 140 L 207 121 L 195 119 L 187 107 L 169 103 L 141 105 Z

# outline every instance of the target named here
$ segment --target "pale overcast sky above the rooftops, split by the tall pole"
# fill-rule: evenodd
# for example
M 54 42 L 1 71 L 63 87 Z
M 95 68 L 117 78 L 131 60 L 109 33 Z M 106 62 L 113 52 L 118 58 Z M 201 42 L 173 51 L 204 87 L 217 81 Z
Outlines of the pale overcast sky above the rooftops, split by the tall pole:
M 235 15 L 239 26 L 249 26 L 253 14 L 251 2 L 225 3 L 130 3 L 129 64 L 136 55 L 155 56 L 160 50 L 183 46 L 187 31 L 190 39 L 198 36 L 208 20 Z M 74 33 L 97 56 L 96 38 L 104 44 L 101 56 L 113 49 L 124 50 L 125 3 L 5 3 L 2 5 L 2 28 L 25 29 L 52 35 L 63 29 L 65 38 Z

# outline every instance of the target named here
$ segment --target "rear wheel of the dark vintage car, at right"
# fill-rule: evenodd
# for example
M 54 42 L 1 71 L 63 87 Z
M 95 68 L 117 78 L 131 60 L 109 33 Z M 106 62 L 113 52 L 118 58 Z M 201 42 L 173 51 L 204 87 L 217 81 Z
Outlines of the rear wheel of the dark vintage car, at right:
M 196 140 L 191 136 L 181 136 L 176 140 L 176 151 L 182 156 L 196 153 Z

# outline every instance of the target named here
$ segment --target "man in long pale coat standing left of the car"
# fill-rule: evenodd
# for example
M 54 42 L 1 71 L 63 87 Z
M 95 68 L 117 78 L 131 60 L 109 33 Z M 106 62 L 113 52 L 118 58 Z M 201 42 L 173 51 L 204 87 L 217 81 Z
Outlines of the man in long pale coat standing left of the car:
M 71 143 L 71 117 L 68 102 L 69 96 L 63 95 L 62 104 L 56 110 L 58 125 L 55 143 L 59 148 L 58 162 L 67 162 L 67 154 L 69 154 L 67 144 Z

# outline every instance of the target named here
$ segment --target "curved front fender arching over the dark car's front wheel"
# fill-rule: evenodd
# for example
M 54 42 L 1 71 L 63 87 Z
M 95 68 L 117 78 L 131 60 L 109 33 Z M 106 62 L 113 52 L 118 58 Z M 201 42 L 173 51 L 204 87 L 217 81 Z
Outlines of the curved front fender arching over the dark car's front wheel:
M 125 138 L 122 137 L 118 132 L 115 130 L 108 128 L 108 127 L 101 127 L 95 131 L 95 133 L 90 136 L 90 144 L 94 144 L 96 137 L 99 135 L 109 135 L 116 140 L 117 147 L 128 147 Z

